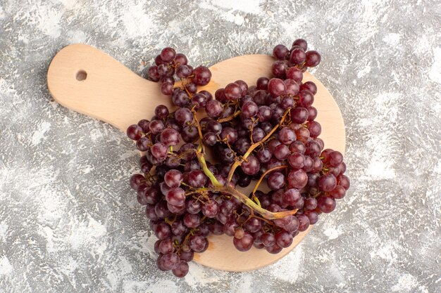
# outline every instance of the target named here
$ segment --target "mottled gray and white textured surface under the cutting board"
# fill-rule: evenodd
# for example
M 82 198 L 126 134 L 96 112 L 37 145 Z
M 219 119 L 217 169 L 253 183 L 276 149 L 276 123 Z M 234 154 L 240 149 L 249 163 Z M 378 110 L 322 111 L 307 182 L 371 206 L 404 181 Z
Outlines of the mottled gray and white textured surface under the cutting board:
M 0 292 L 441 292 L 440 1 L 327 2 L 0 0 Z M 213 65 L 298 37 L 343 113 L 347 197 L 267 268 L 157 270 L 137 152 L 51 101 L 51 58 L 81 42 L 140 73 L 167 45 Z

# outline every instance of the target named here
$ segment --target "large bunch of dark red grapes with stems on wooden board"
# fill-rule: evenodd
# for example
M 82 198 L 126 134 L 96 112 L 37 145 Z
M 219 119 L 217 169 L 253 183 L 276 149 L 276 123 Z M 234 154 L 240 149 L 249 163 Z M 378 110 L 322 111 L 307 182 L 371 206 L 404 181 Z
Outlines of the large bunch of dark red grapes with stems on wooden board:
M 142 174 L 130 185 L 159 238 L 154 249 L 161 270 L 185 276 L 194 252 L 209 247 L 211 233 L 231 236 L 242 252 L 254 246 L 277 254 L 344 197 L 343 156 L 323 150 L 312 105 L 317 87 L 302 82 L 321 56 L 306 50 L 303 39 L 290 49 L 275 46 L 274 78 L 261 77 L 256 86 L 237 80 L 214 98 L 197 91 L 210 82 L 207 67 L 193 68 L 173 48 L 156 56 L 148 77 L 160 82 L 176 108 L 157 106 L 150 121 L 129 126 L 127 134 L 144 154 Z M 200 121 L 199 111 L 206 113 Z M 206 148 L 214 150 L 213 162 Z M 264 181 L 269 192 L 262 191 L 268 190 Z M 251 183 L 247 195 L 235 188 Z

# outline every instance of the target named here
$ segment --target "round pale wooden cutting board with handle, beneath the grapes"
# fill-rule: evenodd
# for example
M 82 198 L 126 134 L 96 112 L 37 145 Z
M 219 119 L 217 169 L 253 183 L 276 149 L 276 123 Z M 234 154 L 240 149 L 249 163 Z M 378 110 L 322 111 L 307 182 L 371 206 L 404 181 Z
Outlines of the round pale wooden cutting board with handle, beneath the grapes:
M 244 80 L 249 86 L 255 85 L 259 77 L 271 77 L 273 61 L 271 56 L 266 55 L 224 60 L 210 67 L 211 82 L 198 90 L 209 91 L 214 96 L 218 88 L 237 79 Z M 305 81 L 316 83 L 318 88 L 313 105 L 318 110 L 316 121 L 321 123 L 320 137 L 325 141 L 325 148 L 344 153 L 344 124 L 337 103 L 309 72 L 304 72 Z M 130 124 L 136 124 L 140 119 L 151 119 L 156 105 L 174 108 L 170 97 L 161 93 L 159 84 L 139 77 L 111 56 L 85 44 L 66 46 L 56 54 L 49 65 L 47 84 L 51 96 L 61 105 L 108 122 L 124 132 Z M 242 188 L 242 192 L 249 193 L 251 185 Z M 321 221 L 325 221 L 325 218 L 321 216 Z M 309 230 L 294 237 L 292 245 L 279 254 L 269 254 L 264 249 L 254 247 L 248 252 L 239 252 L 232 244 L 232 237 L 213 235 L 209 237 L 209 249 L 195 254 L 194 261 L 225 271 L 262 268 L 294 249 Z

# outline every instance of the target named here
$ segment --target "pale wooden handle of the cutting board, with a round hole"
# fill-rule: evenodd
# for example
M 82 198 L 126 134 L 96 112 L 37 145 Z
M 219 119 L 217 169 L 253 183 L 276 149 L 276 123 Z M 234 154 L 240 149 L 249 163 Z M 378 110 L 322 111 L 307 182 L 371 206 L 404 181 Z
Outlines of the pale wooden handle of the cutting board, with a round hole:
M 130 117 L 136 123 L 151 117 L 162 96 L 158 84 L 139 77 L 97 48 L 73 44 L 59 51 L 47 72 L 51 96 L 61 105 L 125 130 Z M 170 98 L 163 98 L 169 105 Z M 153 108 L 153 109 L 151 109 Z M 147 111 L 147 112 L 146 112 Z

